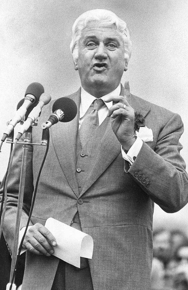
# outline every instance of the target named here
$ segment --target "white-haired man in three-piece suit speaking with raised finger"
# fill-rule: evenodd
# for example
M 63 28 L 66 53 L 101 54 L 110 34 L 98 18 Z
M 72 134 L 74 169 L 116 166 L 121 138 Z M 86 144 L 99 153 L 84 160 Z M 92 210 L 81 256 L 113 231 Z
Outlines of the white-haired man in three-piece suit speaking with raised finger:
M 188 200 L 178 141 L 183 124 L 177 114 L 131 95 L 128 84 L 125 89 L 120 84 L 131 41 L 126 23 L 114 13 L 97 9 L 78 17 L 71 52 L 82 87 L 68 97 L 79 110 L 71 122 L 50 130 L 49 153 L 23 242 L 28 251 L 22 290 L 149 290 L 154 202 L 175 212 Z M 51 109 L 52 102 L 40 122 Z M 32 136 L 33 143 L 40 142 L 40 124 Z M 4 224 L 10 248 L 22 156 L 18 151 Z M 35 146 L 27 164 L 21 228 L 42 158 L 42 149 Z M 49 217 L 92 236 L 89 264 L 81 259 L 81 269 L 76 269 L 51 255 L 56 240 L 44 227 Z

